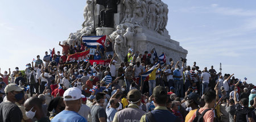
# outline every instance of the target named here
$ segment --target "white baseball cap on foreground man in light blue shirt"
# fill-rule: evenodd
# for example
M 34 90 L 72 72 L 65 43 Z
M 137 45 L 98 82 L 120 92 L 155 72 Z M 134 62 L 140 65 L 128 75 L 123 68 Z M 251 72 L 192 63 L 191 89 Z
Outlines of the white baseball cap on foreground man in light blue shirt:
M 83 97 L 82 92 L 77 87 L 71 87 L 71 88 L 67 89 L 63 94 L 63 98 L 65 101 L 77 100 L 82 97 Z

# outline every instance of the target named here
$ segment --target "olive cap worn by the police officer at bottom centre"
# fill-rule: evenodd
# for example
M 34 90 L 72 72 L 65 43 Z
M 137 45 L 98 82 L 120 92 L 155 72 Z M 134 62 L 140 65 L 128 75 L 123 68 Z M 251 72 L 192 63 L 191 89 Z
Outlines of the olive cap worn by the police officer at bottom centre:
M 127 100 L 130 103 L 131 102 L 137 103 L 139 100 L 141 100 L 141 98 L 142 98 L 141 92 L 137 89 L 133 89 L 133 90 L 129 91 L 127 94 Z

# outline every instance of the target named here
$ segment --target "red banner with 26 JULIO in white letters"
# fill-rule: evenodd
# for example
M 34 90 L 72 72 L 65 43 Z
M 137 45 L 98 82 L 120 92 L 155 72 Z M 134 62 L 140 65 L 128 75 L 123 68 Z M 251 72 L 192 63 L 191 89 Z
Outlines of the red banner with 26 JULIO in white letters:
M 66 64 L 75 64 L 77 62 L 83 62 L 86 58 L 90 57 L 90 50 L 68 55 Z

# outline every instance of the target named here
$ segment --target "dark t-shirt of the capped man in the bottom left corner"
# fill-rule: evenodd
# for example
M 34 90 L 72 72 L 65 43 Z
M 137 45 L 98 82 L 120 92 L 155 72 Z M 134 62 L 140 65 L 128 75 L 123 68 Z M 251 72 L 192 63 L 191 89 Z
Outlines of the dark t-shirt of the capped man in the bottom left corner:
M 22 117 L 22 112 L 16 104 L 10 102 L 2 102 L 0 104 L 1 122 L 21 121 Z

